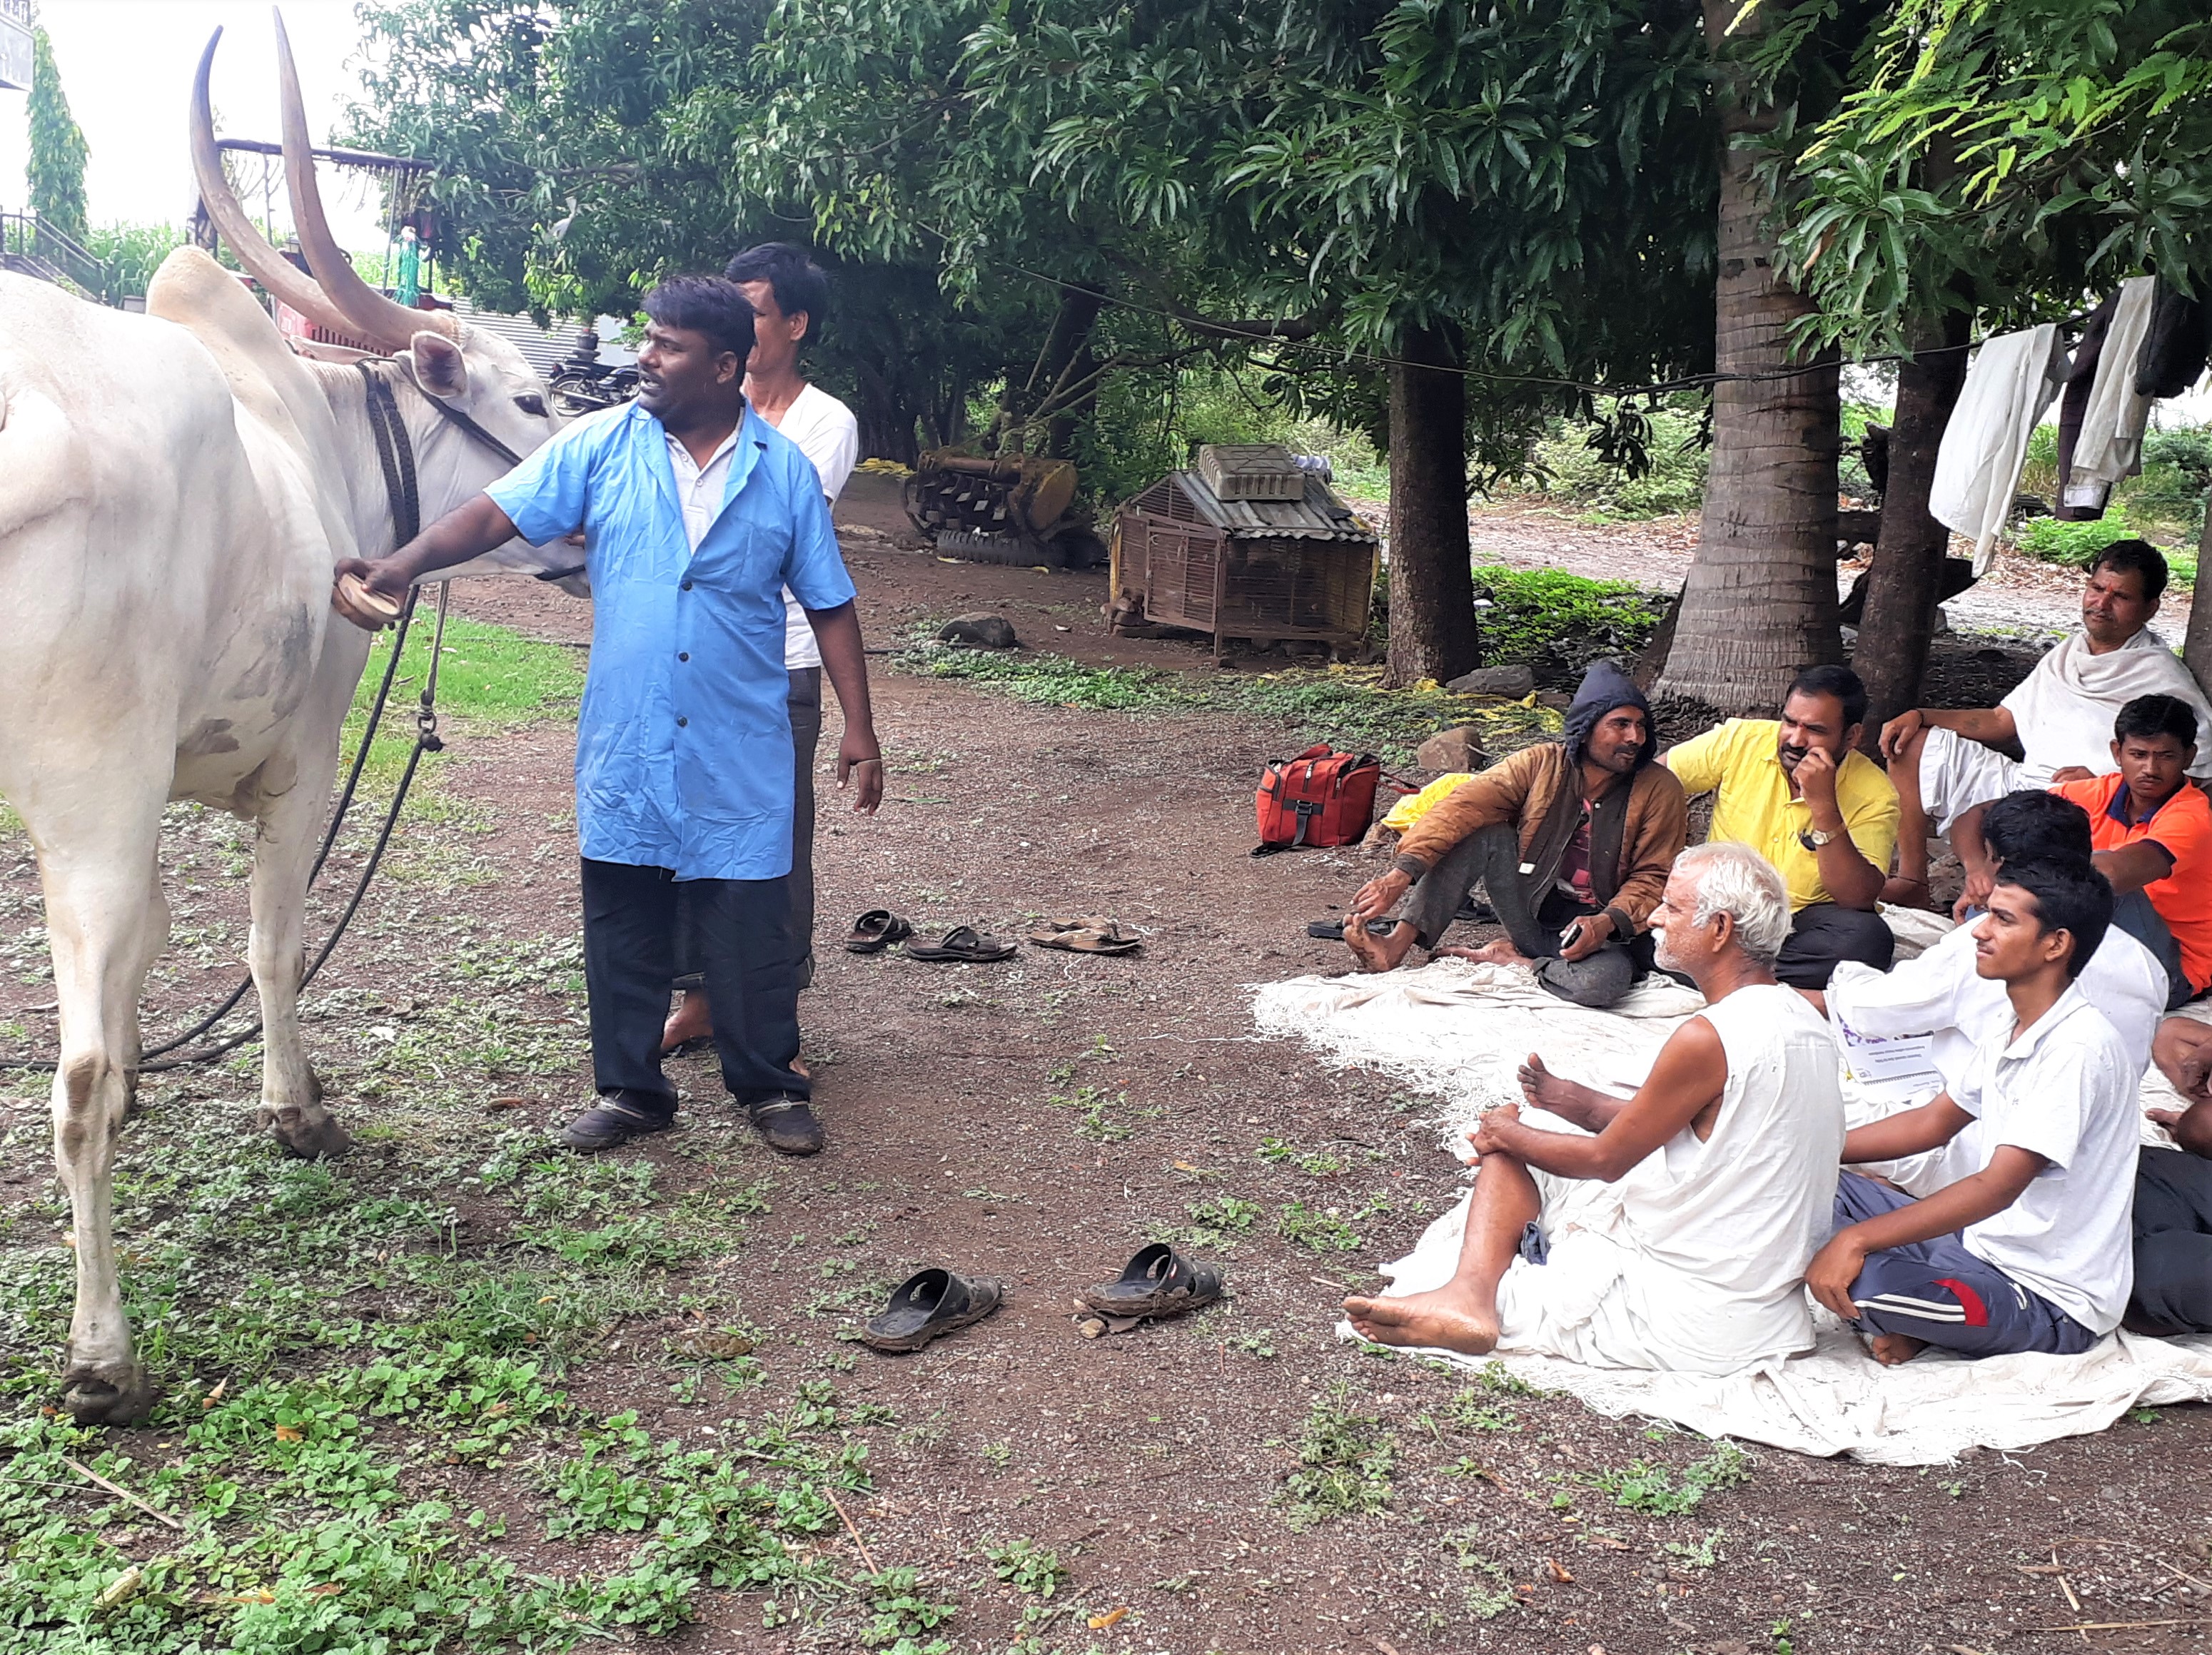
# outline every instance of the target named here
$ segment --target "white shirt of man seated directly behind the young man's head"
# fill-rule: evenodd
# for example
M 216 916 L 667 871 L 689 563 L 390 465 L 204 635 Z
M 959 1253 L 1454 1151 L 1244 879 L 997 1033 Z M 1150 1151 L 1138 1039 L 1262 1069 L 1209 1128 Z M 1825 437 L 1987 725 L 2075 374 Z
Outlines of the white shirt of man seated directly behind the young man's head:
M 2088 956 L 2077 982 L 2119 1033 L 2135 1073 L 2150 1066 L 2150 1038 L 2166 1016 L 2166 967 L 2117 925 Z M 1916 960 L 1889 971 L 1845 960 L 1827 982 L 1827 1013 L 1869 1040 L 1936 1035 L 1929 1062 L 1953 1089 L 1973 1069 L 1980 1047 L 2013 1031 L 2004 985 L 1973 969 L 1973 925 L 1960 925 Z

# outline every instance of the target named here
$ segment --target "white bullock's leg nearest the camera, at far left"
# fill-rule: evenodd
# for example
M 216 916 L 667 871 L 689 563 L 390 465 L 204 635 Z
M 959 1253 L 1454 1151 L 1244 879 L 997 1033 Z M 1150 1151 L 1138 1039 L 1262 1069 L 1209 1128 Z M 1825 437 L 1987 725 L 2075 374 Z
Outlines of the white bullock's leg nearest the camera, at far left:
M 161 803 L 139 805 L 133 810 L 117 801 L 100 823 L 44 823 L 35 810 L 24 812 L 42 845 L 40 876 L 62 1022 L 53 1155 L 69 1193 L 77 1252 L 77 1305 L 69 1319 L 62 1403 L 80 1425 L 135 1423 L 155 1398 L 131 1347 L 115 1266 L 115 1146 L 137 1089 L 137 998 L 146 967 L 168 940 L 159 883 L 148 889 Z

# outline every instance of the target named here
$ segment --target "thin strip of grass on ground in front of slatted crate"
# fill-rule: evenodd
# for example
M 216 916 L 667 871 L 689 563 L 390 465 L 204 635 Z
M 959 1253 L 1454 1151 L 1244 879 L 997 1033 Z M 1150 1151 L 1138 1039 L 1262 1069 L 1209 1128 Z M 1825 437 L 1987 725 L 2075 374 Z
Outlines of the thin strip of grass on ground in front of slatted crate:
M 1557 732 L 1544 708 L 1451 695 L 1433 684 L 1380 688 L 1383 668 L 1332 666 L 1287 673 L 1161 673 L 1146 666 L 1082 666 L 1040 650 L 969 650 L 920 644 L 898 664 L 927 677 L 967 679 L 1033 706 L 1088 712 L 1234 712 L 1281 724 L 1301 743 L 1327 739 L 1345 750 L 1402 763 L 1438 730 L 1473 724 L 1493 754 Z

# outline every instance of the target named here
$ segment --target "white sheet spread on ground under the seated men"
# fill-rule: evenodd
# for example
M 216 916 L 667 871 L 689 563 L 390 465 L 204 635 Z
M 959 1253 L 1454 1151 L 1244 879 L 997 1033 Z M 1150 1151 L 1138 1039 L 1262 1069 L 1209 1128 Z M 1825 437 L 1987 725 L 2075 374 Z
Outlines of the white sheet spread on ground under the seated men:
M 1913 943 L 1938 936 L 1936 916 L 1891 916 Z M 1902 947 L 1900 947 L 1902 954 Z M 1666 1038 L 1703 1000 L 1663 978 L 1646 980 L 1613 1011 L 1586 1011 L 1537 987 L 1515 967 L 1436 960 L 1413 971 L 1354 978 L 1294 978 L 1261 985 L 1254 1016 L 1270 1033 L 1298 1035 L 1347 1066 L 1378 1069 L 1444 1102 L 1444 1146 L 1462 1148 L 1467 1122 L 1500 1102 L 1520 1102 L 1515 1071 L 1531 1051 L 1571 1080 L 1628 1093 Z M 2212 1007 L 2183 1016 L 2212 1022 Z M 2166 1080 L 2143 1082 L 2146 1108 L 2179 1106 Z M 1845 1084 L 1849 1120 L 1889 1113 Z M 2143 1142 L 2170 1142 L 2143 1122 Z M 1394 1292 L 1425 1292 L 1451 1277 L 1467 1204 L 1436 1219 L 1411 1255 L 1385 1266 Z M 1818 1345 L 1781 1363 L 1714 1378 L 1584 1367 L 1553 1356 L 1502 1356 L 1522 1378 L 1579 1396 L 1608 1416 L 1674 1420 L 1710 1436 L 1803 1454 L 1851 1454 L 1885 1465 L 1938 1465 L 1969 1447 L 2024 1449 L 2099 1432 L 2130 1407 L 2212 1401 L 2212 1339 L 2112 1334 L 2079 1356 L 1993 1356 L 1980 1363 L 1936 1352 L 1880 1367 L 1843 1323 L 1814 1312 Z M 1340 1332 L 1352 1339 L 1349 1325 Z M 1480 1367 L 1489 1359 L 1433 1352 Z

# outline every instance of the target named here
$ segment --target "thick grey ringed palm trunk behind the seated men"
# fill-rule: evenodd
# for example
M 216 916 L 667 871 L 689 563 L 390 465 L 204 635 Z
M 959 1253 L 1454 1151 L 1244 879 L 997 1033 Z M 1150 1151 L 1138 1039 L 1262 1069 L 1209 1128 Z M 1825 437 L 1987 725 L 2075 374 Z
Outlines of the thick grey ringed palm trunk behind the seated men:
M 1741 0 L 1705 0 L 1721 58 Z M 1750 13 L 1745 29 L 1759 27 Z M 1659 693 L 1721 712 L 1772 712 L 1805 666 L 1843 659 L 1836 633 L 1836 451 L 1843 447 L 1832 352 L 1792 361 L 1790 323 L 1812 312 L 1774 270 L 1761 228 L 1772 208 L 1739 135 L 1774 126 L 1747 111 L 1721 66 L 1721 217 L 1714 296 L 1712 467 L 1697 562 L 1683 586 Z

